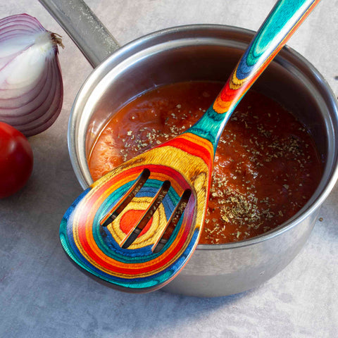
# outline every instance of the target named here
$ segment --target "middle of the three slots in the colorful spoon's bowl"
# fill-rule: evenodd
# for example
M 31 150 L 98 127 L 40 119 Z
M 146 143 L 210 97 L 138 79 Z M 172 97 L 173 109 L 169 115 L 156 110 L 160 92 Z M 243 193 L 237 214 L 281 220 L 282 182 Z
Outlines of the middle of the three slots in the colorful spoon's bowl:
M 158 190 L 158 193 L 154 197 L 153 201 L 146 209 L 146 212 L 142 216 L 141 220 L 139 220 L 139 223 L 137 223 L 137 227 L 135 227 L 134 231 L 125 240 L 125 243 L 122 246 L 123 249 L 127 249 L 134 242 L 134 240 L 137 239 L 137 237 L 142 232 L 146 224 L 149 222 L 149 220 L 151 220 L 151 217 L 153 217 L 157 208 L 162 203 L 165 195 L 168 194 L 170 186 L 171 186 L 170 181 L 166 180 L 163 182 L 161 188 Z

